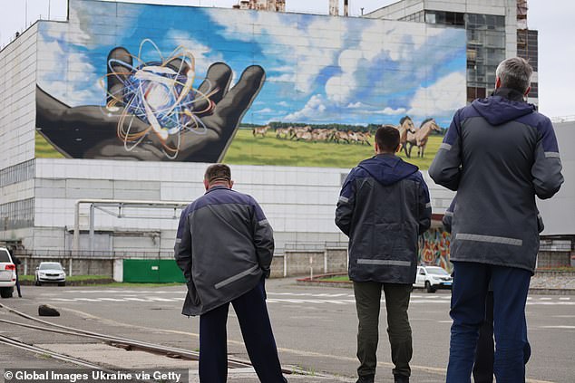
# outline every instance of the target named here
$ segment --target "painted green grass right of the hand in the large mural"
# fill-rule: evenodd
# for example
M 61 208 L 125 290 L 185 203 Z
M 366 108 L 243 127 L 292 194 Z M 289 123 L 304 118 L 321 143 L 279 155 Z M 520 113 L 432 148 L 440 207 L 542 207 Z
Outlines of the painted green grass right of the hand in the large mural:
M 427 169 L 437 153 L 443 137 L 431 136 L 425 148 L 425 157 L 400 157 L 419 168 Z M 373 138 L 370 139 L 373 144 Z M 337 144 L 335 142 L 306 142 L 277 139 L 273 132 L 265 138 L 254 138 L 251 130 L 239 129 L 231 142 L 224 162 L 237 165 L 280 165 L 294 167 L 353 168 L 359 161 L 374 155 L 373 146 Z

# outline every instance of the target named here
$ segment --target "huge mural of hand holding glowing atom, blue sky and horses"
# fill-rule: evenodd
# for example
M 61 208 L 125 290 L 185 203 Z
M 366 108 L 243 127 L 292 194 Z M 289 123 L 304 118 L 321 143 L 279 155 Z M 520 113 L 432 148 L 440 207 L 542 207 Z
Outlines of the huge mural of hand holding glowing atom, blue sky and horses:
M 465 102 L 465 33 L 71 0 L 39 25 L 36 156 L 350 168 L 400 129 L 425 168 Z

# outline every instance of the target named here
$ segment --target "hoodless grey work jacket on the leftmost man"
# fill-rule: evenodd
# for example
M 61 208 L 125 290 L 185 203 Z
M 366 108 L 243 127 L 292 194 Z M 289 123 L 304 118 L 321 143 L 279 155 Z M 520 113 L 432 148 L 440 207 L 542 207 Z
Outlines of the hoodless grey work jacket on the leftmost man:
M 269 276 L 273 231 L 253 197 L 212 187 L 181 213 L 174 253 L 188 284 L 182 314 L 201 315 Z

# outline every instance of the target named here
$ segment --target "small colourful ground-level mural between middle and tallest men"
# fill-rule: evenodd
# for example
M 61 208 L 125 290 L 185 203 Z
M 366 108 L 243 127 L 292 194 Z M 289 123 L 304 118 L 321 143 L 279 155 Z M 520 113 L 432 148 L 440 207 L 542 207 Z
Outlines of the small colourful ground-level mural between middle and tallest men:
M 419 237 L 419 263 L 442 267 L 448 273 L 453 271 L 449 262 L 451 235 L 442 228 L 431 228 Z

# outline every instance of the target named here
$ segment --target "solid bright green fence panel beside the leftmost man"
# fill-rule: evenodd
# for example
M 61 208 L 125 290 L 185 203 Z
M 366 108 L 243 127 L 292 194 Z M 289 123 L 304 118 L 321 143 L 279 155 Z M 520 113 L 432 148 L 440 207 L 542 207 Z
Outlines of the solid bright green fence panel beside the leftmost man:
M 123 282 L 186 282 L 180 267 L 171 259 L 124 259 Z

